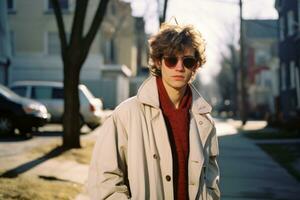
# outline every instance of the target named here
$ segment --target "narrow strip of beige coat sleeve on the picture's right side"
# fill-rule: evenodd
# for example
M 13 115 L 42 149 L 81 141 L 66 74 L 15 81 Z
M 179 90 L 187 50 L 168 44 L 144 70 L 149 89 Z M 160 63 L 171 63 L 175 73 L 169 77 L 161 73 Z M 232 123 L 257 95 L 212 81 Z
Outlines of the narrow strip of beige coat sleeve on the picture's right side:
M 209 144 L 209 160 L 206 169 L 206 185 L 208 189 L 208 195 L 210 199 L 220 199 L 219 179 L 220 171 L 217 163 L 217 157 L 219 155 L 218 137 L 216 135 L 216 128 L 213 127 Z

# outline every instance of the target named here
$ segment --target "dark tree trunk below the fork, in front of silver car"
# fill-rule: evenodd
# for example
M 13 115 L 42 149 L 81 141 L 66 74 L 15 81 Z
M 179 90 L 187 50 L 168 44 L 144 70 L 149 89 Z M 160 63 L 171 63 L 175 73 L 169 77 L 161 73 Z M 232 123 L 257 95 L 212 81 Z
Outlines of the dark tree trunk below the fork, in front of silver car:
M 80 114 L 79 114 L 79 62 L 64 61 L 64 135 L 63 147 L 80 148 Z

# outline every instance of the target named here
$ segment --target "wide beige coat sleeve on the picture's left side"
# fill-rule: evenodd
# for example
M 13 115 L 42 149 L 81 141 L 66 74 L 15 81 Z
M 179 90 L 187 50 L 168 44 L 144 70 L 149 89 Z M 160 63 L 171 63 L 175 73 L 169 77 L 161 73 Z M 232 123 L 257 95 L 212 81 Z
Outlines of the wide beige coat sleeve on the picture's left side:
M 91 199 L 128 199 L 127 133 L 117 115 L 99 129 L 89 168 L 87 189 Z

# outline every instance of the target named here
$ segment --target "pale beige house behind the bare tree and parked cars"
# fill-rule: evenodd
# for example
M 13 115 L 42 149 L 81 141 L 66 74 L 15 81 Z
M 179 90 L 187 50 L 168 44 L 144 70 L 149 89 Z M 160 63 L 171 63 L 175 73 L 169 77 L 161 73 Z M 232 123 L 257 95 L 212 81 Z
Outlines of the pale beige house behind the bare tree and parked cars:
M 9 82 L 18 80 L 63 80 L 60 40 L 51 0 L 7 0 L 12 38 Z M 60 0 L 67 37 L 70 36 L 75 0 Z M 85 21 L 87 30 L 99 0 L 90 0 Z M 130 77 L 137 74 L 136 18 L 130 3 L 109 1 L 106 16 L 96 35 L 80 82 L 113 108 L 129 97 Z M 107 91 L 110 91 L 109 93 Z

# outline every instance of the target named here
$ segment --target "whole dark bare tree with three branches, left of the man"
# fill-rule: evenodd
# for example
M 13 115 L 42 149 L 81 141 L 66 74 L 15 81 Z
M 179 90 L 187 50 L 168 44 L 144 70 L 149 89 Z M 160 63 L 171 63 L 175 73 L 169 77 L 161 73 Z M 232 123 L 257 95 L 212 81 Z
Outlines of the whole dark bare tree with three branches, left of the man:
M 71 37 L 67 40 L 59 0 L 51 0 L 58 26 L 64 73 L 63 147 L 80 148 L 80 123 L 78 84 L 80 70 L 90 46 L 105 16 L 109 0 L 99 0 L 98 8 L 87 33 L 84 22 L 89 0 L 76 0 Z

